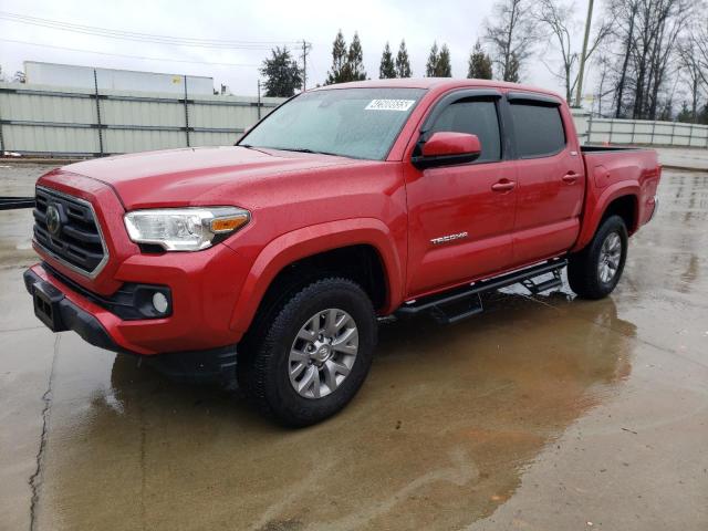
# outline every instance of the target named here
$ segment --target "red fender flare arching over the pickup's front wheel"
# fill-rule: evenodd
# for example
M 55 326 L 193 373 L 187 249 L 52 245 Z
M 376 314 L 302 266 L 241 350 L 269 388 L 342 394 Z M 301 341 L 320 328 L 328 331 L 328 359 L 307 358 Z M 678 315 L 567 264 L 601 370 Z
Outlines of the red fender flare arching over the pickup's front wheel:
M 231 330 L 246 333 L 273 279 L 287 266 L 342 247 L 368 244 L 378 252 L 386 277 L 385 313 L 403 301 L 402 257 L 388 227 L 376 218 L 354 218 L 303 227 L 268 243 L 256 258 L 231 314 Z

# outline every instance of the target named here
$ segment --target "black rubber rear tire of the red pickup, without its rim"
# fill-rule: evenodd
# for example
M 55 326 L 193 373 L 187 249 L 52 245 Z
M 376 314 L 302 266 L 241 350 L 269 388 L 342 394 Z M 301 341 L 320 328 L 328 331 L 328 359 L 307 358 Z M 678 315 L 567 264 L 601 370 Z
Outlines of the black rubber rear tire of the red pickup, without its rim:
M 603 281 L 600 272 L 603 243 L 616 235 L 620 238 L 620 262 L 608 281 Z M 568 263 L 568 281 L 571 289 L 583 299 L 602 299 L 607 296 L 620 282 L 624 263 L 627 259 L 627 227 L 620 216 L 610 216 L 605 219 L 591 242 L 580 252 L 571 254 Z

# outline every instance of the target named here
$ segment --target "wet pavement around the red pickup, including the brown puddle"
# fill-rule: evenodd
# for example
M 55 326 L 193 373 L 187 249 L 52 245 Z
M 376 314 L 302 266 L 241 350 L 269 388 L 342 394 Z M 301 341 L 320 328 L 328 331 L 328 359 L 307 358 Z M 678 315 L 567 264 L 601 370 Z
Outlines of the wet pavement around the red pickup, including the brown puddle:
M 0 163 L 0 195 L 46 169 Z M 358 396 L 302 430 L 50 333 L 31 214 L 0 212 L 0 529 L 708 529 L 708 171 L 659 198 L 612 296 L 385 324 Z

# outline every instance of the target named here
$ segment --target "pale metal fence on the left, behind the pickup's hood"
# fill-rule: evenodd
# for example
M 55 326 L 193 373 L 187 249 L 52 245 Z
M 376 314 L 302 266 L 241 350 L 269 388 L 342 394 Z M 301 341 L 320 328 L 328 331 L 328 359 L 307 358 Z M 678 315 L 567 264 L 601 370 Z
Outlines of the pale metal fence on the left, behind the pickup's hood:
M 102 156 L 230 145 L 281 102 L 0 83 L 0 153 Z

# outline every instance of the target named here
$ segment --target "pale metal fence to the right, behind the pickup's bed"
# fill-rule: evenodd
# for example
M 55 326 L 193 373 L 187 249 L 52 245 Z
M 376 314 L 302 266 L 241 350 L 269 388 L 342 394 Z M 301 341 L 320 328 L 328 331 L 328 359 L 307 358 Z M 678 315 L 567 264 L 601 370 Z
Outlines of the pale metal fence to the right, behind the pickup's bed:
M 639 144 L 708 148 L 708 125 L 646 119 L 593 118 L 573 111 L 582 144 Z

